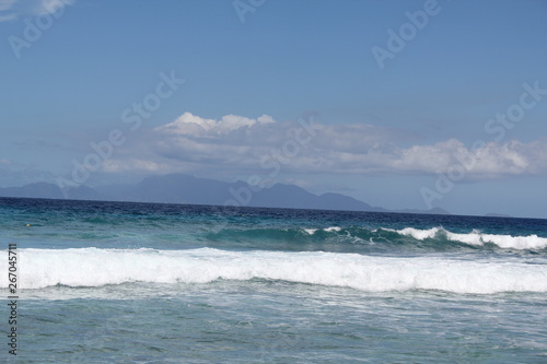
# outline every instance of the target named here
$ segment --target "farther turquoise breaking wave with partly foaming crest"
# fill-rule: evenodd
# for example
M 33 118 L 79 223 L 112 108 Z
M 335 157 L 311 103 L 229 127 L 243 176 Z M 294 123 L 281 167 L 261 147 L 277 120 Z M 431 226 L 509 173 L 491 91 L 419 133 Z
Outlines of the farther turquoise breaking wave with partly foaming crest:
M 486 234 L 478 230 L 469 233 L 454 233 L 443 227 L 419 230 L 415 227 L 365 228 L 330 226 L 325 228 L 225 228 L 207 234 L 209 242 L 228 242 L 243 248 L 366 253 L 382 248 L 420 248 L 431 251 L 446 251 L 452 248 L 485 247 L 542 250 L 547 248 L 547 238 L 537 235 L 512 236 Z M 371 250 L 372 244 L 375 245 Z M 347 249 L 344 249 L 344 247 Z M 358 249 L 361 246 L 362 250 Z M 221 246 L 212 246 L 221 247 Z

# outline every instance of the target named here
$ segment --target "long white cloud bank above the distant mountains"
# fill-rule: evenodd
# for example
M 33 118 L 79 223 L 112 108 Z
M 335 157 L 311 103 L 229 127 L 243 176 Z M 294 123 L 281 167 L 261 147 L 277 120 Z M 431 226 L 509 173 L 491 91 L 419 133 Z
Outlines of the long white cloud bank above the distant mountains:
M 545 141 L 489 142 L 475 150 L 457 139 L 400 146 L 409 141 L 404 132 L 372 125 L 316 124 L 313 130 L 307 143 L 294 144 L 307 138 L 298 121 L 279 122 L 266 115 L 256 119 L 226 115 L 214 120 L 185 113 L 150 131 L 138 148 L 126 151 L 127 160 L 110 162 L 104 169 L 172 173 L 207 168 L 236 175 L 260 171 L 266 162 L 292 173 L 437 174 L 461 165 L 474 178 L 547 173 Z

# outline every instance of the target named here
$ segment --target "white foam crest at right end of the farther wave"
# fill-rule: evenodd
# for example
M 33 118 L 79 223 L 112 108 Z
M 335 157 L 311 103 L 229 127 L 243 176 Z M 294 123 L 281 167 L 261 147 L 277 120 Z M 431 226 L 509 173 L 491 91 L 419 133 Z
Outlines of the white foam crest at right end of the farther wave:
M 449 232 L 442 227 L 433 227 L 429 230 L 419 230 L 414 227 L 406 227 L 403 230 L 384 228 L 386 231 L 396 232 L 401 235 L 411 236 L 418 240 L 433 238 L 439 234 L 444 234 L 447 239 L 453 242 L 462 242 L 469 245 L 484 245 L 485 243 L 492 243 L 501 248 L 512 249 L 544 249 L 547 248 L 547 238 L 537 235 L 528 236 L 511 236 L 511 235 L 494 235 L 482 234 L 474 230 L 467 234 L 457 234 Z

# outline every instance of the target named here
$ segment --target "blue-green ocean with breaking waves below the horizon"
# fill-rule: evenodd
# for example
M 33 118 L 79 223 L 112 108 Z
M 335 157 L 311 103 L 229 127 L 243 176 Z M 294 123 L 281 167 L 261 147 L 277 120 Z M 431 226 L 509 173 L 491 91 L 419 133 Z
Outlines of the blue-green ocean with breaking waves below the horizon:
M 547 363 L 547 220 L 1 198 L 0 226 L 1 362 Z

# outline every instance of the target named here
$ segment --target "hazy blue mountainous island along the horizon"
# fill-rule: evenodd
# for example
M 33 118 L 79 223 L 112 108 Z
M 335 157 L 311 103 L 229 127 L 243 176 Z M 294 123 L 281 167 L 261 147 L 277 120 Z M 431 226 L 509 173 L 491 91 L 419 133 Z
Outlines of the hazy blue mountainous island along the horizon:
M 66 191 L 54 184 L 37 183 L 0 188 L 0 197 L 450 214 L 440 208 L 392 211 L 341 193 L 314 195 L 294 185 L 258 188 L 241 180 L 225 183 L 185 174 L 152 176 L 135 185 L 80 186 Z

